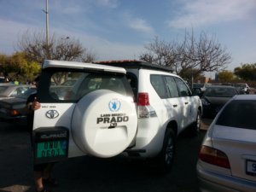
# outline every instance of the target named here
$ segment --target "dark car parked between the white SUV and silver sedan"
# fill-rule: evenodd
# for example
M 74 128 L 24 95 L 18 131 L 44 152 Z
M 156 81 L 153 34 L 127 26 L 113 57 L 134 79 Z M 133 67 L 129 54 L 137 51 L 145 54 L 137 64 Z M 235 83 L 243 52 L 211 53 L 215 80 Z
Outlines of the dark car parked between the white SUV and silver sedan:
M 201 96 L 203 106 L 203 117 L 214 118 L 219 110 L 232 96 L 236 96 L 238 91 L 233 86 L 210 85 Z

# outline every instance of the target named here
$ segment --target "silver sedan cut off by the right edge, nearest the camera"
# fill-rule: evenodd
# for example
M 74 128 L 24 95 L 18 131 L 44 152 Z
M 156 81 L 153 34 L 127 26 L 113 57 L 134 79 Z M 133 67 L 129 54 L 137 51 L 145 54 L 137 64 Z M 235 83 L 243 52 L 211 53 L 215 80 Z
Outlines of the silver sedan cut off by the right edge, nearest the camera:
M 230 99 L 201 144 L 197 176 L 201 191 L 256 191 L 256 95 Z

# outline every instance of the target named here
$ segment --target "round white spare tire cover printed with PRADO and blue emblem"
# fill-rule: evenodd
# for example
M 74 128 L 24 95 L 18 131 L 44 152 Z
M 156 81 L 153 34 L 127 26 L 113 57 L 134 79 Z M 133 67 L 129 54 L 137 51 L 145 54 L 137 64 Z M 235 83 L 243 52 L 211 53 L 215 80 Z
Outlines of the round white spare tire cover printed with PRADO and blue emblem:
M 112 157 L 129 147 L 137 134 L 137 112 L 131 97 L 96 90 L 79 100 L 72 118 L 74 142 L 86 154 Z

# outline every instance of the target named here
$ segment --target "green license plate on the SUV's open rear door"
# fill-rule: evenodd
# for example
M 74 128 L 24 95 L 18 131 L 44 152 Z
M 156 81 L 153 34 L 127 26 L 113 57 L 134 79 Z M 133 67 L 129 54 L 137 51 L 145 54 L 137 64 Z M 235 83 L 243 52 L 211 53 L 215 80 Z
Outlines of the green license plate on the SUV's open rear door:
M 36 158 L 51 158 L 67 156 L 67 141 L 47 141 L 37 143 Z

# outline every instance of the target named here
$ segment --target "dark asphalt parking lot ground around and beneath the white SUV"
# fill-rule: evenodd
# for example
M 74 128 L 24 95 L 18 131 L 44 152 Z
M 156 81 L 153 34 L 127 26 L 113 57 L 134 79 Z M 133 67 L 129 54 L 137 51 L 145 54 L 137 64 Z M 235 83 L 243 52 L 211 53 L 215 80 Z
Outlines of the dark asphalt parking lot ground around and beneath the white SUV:
M 211 120 L 203 119 L 207 129 Z M 53 172 L 60 185 L 55 192 L 198 192 L 195 164 L 201 141 L 186 134 L 177 139 L 172 172 L 160 175 L 144 160 L 123 156 L 96 159 L 79 157 L 59 162 Z M 24 127 L 0 122 L 0 192 L 33 192 L 32 155 Z

